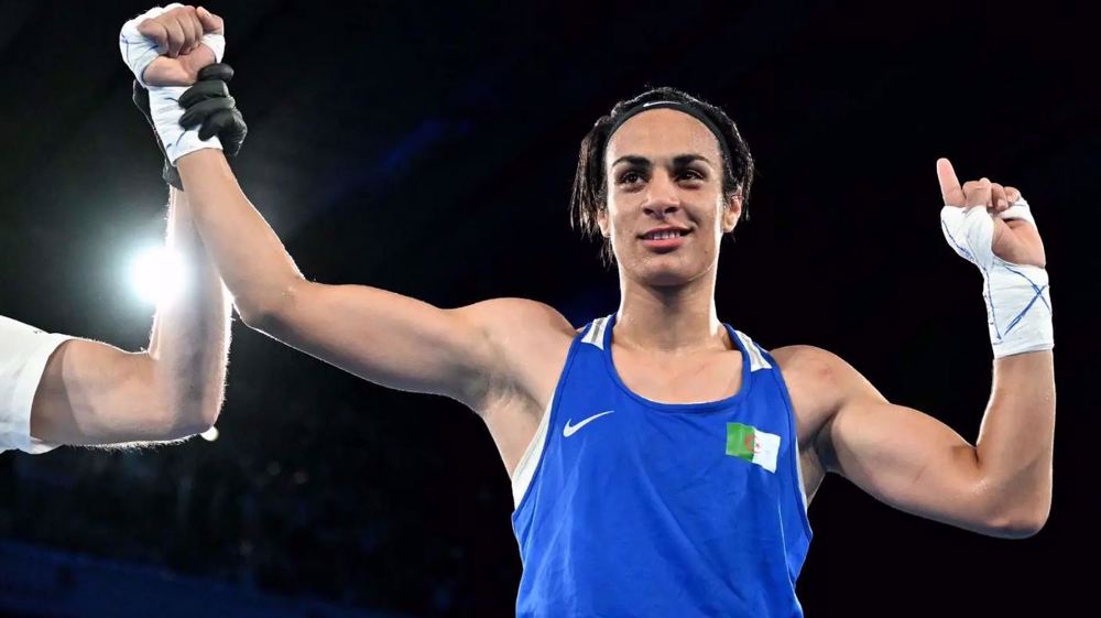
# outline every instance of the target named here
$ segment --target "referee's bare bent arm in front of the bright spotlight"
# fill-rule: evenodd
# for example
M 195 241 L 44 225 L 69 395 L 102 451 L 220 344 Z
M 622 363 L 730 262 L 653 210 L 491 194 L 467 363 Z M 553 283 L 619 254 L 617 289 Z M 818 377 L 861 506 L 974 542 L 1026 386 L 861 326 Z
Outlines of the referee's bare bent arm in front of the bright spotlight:
M 73 339 L 50 357 L 31 406 L 31 435 L 50 444 L 168 441 L 210 427 L 221 408 L 229 299 L 172 189 L 166 245 L 188 283 L 156 307 L 149 349 Z

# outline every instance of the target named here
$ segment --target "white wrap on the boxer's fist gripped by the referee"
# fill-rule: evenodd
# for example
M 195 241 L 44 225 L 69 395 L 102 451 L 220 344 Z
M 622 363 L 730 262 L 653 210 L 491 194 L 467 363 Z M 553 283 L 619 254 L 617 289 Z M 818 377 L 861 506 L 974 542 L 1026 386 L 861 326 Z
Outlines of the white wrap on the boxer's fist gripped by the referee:
M 122 24 L 122 32 L 119 34 L 119 48 L 122 52 L 122 59 L 133 72 L 138 83 L 149 90 L 149 109 L 153 116 L 153 124 L 156 126 L 156 134 L 161 137 L 164 144 L 164 153 L 168 161 L 175 165 L 181 156 L 203 150 L 205 148 L 216 148 L 221 150 L 221 141 L 217 137 L 209 140 L 200 140 L 198 127 L 184 130 L 179 126 L 179 118 L 184 115 L 184 108 L 179 107 L 179 95 L 187 89 L 186 86 L 150 86 L 145 83 L 145 68 L 161 55 L 164 50 L 159 48 L 153 40 L 142 36 L 138 32 L 138 24 L 161 15 L 172 9 L 183 4 L 168 4 L 167 7 L 154 7 L 149 11 Z M 214 52 L 215 62 L 221 62 L 226 53 L 226 37 L 221 34 L 204 34 L 203 44 Z

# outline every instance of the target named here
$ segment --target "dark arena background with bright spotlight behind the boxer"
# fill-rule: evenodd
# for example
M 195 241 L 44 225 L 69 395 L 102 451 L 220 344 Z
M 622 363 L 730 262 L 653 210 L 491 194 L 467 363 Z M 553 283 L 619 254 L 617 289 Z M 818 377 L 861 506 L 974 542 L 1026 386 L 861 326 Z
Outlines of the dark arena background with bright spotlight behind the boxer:
M 117 35 L 140 2 L 2 3 L 0 313 L 145 345 L 124 277 L 165 189 Z M 939 230 L 938 156 L 1021 187 L 1053 281 L 1050 520 L 1024 541 L 920 520 L 829 477 L 810 616 L 1089 614 L 1101 163 L 1091 20 L 1051 3 L 211 2 L 250 133 L 246 192 L 298 265 L 439 306 L 525 296 L 575 325 L 617 279 L 567 218 L 577 147 L 674 85 L 728 110 L 760 166 L 723 246 L 720 317 L 839 354 L 974 440 L 991 362 L 980 277 Z M 508 616 L 520 561 L 481 422 L 233 325 L 216 442 L 0 456 L 0 536 L 290 597 Z M 732 522 L 732 524 L 735 524 Z

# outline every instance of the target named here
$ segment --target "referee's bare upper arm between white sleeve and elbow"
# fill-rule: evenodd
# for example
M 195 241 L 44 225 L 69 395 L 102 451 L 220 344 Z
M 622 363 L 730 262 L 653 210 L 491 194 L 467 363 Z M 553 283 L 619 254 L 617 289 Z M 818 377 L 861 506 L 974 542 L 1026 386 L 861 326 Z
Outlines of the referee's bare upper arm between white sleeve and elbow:
M 31 406 L 31 435 L 52 444 L 112 444 L 173 436 L 152 359 L 72 339 L 50 357 Z

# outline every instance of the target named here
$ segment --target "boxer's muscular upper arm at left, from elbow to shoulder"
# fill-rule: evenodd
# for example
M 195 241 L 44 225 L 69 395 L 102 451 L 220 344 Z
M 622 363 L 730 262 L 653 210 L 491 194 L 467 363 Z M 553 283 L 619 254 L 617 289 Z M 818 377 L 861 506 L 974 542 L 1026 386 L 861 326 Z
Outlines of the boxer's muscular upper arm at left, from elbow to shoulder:
M 443 394 L 475 406 L 503 379 L 508 322 L 519 299 L 444 310 L 363 285 L 301 282 L 255 327 L 384 387 Z

